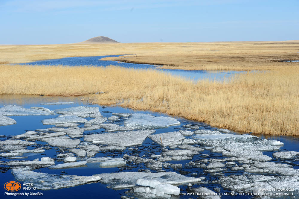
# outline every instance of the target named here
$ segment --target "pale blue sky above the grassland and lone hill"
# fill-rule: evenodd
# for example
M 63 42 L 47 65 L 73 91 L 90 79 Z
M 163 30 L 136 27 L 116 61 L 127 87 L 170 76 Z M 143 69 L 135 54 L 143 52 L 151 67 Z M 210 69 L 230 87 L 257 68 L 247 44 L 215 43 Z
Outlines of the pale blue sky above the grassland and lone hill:
M 0 0 L 0 44 L 299 40 L 299 1 Z

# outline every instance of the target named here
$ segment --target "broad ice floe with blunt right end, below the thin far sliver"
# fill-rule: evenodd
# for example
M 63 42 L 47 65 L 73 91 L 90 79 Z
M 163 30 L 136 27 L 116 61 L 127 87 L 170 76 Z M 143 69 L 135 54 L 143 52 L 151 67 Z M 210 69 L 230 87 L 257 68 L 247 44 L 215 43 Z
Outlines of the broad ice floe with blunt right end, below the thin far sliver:
M 91 117 L 90 114 L 99 113 L 99 107 L 69 107 L 54 110 L 55 113 L 75 115 L 79 117 Z

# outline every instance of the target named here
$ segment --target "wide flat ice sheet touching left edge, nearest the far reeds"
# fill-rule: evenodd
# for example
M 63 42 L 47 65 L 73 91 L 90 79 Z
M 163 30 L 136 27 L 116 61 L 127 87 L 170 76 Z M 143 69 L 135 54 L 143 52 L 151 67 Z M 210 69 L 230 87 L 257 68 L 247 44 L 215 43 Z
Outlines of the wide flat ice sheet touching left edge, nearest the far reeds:
M 3 116 L 48 116 L 55 115 L 55 113 L 43 110 L 28 109 L 22 106 L 4 105 L 0 108 L 0 115 Z

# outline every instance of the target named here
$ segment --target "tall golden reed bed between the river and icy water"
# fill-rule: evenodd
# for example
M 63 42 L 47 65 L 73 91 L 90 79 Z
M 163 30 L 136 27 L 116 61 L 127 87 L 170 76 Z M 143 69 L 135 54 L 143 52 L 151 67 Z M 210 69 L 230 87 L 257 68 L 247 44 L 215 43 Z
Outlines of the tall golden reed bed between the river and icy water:
M 89 95 L 103 105 L 153 110 L 212 126 L 299 135 L 299 68 L 248 72 L 228 82 L 197 83 L 155 70 L 120 67 L 0 65 L 0 95 Z

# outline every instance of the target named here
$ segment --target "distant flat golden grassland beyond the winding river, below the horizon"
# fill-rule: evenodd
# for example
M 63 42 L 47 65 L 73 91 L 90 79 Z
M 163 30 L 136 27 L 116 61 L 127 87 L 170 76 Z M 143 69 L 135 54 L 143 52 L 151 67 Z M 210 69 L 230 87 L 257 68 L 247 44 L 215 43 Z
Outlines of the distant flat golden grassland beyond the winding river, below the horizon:
M 108 60 L 161 65 L 167 69 L 268 70 L 295 65 L 279 60 L 298 60 L 298 46 L 299 41 L 3 45 L 0 63 L 126 54 Z

